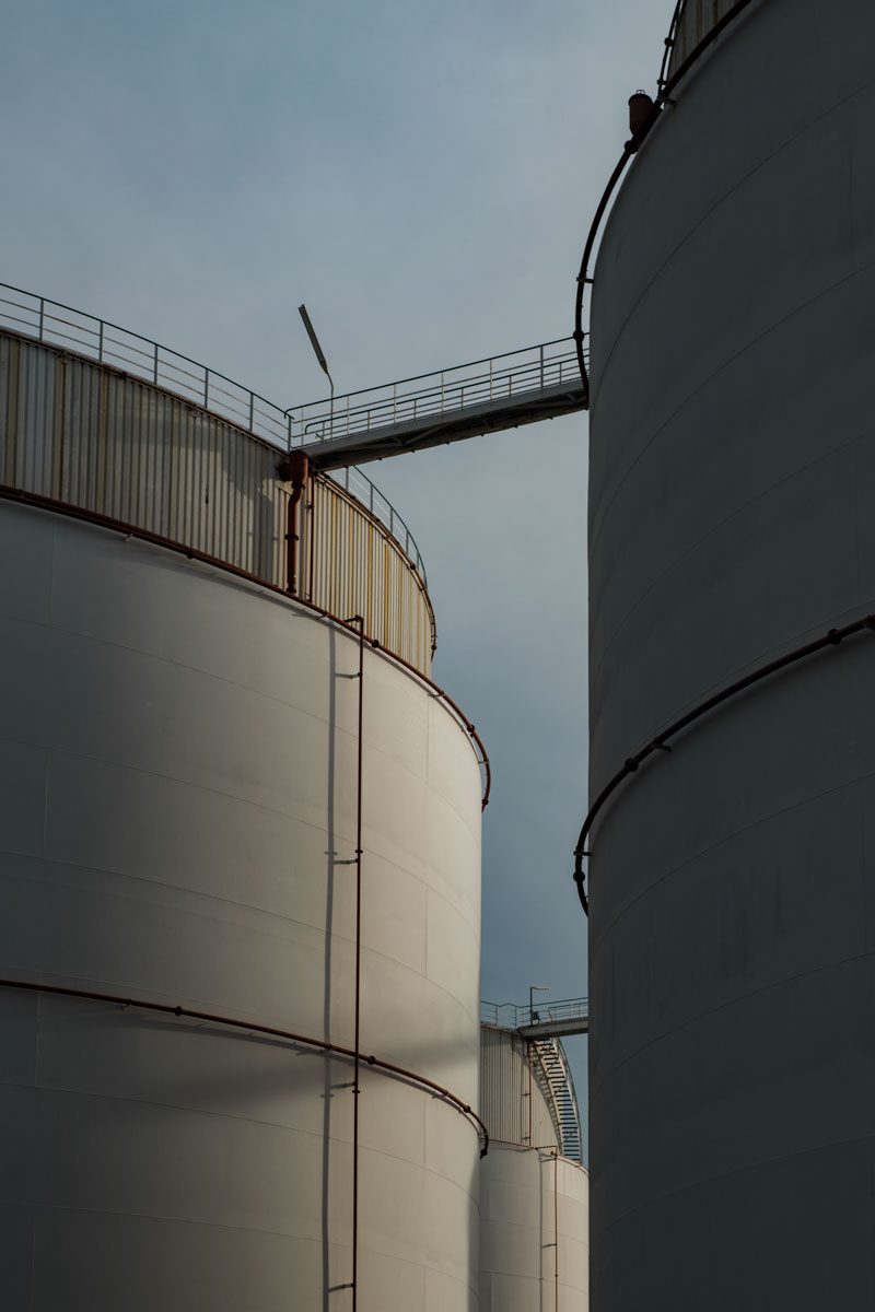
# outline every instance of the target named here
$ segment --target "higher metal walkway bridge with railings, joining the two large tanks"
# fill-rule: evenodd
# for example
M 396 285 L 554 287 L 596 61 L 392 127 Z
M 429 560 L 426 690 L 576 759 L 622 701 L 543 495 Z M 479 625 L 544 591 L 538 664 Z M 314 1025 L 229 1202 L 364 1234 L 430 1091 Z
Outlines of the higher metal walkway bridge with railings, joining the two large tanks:
M 572 337 L 291 407 L 290 446 L 320 470 L 460 442 L 584 409 Z

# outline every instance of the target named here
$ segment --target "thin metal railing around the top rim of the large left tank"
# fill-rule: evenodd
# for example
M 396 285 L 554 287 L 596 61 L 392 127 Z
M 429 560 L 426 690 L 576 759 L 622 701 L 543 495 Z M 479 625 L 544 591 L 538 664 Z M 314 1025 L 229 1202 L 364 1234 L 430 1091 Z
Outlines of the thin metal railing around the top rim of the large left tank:
M 300 445 L 293 437 L 293 419 L 257 392 L 235 383 L 224 374 L 199 365 L 160 342 L 119 328 L 106 319 L 96 319 L 81 310 L 49 300 L 0 282 L 0 327 L 7 327 L 46 345 L 76 352 L 88 359 L 132 374 L 181 396 L 252 433 L 262 442 L 281 450 Z M 395 506 L 374 487 L 361 470 L 346 468 L 329 475 L 357 497 L 404 547 L 422 583 L 428 583 L 422 555 L 413 534 Z

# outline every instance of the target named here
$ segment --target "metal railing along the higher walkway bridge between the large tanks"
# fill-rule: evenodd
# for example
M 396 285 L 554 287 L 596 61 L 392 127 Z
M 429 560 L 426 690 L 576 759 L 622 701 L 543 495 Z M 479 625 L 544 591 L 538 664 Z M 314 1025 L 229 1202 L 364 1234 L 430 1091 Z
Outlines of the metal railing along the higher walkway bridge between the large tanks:
M 291 441 L 310 447 L 376 429 L 428 422 L 462 409 L 575 386 L 579 379 L 573 338 L 558 337 L 453 369 L 294 405 L 290 411 Z

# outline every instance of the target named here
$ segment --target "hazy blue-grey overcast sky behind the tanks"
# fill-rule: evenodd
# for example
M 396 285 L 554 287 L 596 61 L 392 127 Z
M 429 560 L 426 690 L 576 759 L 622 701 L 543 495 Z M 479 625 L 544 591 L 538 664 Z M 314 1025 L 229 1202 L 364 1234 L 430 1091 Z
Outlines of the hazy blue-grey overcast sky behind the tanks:
M 572 331 L 672 0 L 12 0 L 0 279 L 275 400 Z M 483 732 L 483 996 L 586 992 L 586 421 L 367 472 L 415 533 L 434 677 Z M 585 1040 L 569 1044 L 585 1101 Z

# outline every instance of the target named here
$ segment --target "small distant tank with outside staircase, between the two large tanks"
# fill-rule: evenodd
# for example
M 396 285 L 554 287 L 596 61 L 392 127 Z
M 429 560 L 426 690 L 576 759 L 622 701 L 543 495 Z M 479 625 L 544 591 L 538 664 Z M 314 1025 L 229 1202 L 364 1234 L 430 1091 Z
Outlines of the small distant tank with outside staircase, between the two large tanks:
M 586 1312 L 589 1181 L 567 1156 L 580 1134 L 561 1040 L 484 1025 L 480 1115 L 480 1312 Z

